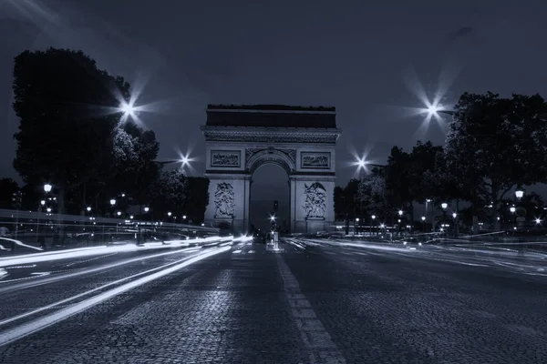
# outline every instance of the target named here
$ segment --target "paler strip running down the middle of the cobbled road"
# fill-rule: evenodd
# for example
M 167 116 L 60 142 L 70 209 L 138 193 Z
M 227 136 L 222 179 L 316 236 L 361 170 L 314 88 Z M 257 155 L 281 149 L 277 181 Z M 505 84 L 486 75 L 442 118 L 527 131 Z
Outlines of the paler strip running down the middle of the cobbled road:
M 298 280 L 291 273 L 281 255 L 276 255 L 277 266 L 284 281 L 285 296 L 300 331 L 304 346 L 310 351 L 310 363 L 346 364 L 346 359 L 336 347 L 321 320 L 315 315 L 310 302 L 300 290 Z

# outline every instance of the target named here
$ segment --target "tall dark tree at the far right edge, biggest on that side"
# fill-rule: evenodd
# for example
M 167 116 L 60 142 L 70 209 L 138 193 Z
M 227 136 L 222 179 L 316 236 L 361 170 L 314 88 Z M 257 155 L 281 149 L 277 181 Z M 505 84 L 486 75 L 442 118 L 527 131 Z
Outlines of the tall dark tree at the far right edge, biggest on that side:
M 547 177 L 547 104 L 539 95 L 465 93 L 449 122 L 445 149 L 462 184 L 475 185 L 474 204 L 490 202 L 498 210 L 513 187 Z M 495 214 L 491 222 L 497 223 Z

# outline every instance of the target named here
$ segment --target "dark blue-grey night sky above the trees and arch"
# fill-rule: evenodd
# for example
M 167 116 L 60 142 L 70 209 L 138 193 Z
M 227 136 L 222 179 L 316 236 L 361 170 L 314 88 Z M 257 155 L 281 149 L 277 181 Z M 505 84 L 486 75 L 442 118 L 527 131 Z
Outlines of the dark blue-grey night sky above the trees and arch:
M 0 176 L 16 177 L 11 84 L 13 58 L 25 49 L 81 49 L 143 86 L 139 104 L 155 102 L 155 112 L 140 118 L 156 132 L 160 158 L 190 150 L 201 157 L 196 175 L 208 103 L 336 106 L 345 185 L 355 153 L 385 163 L 393 145 L 443 142 L 438 123 L 420 128 L 423 116 L 408 116 L 423 106 L 419 85 L 430 99 L 440 89 L 448 106 L 464 91 L 547 95 L 542 0 L 357 3 L 2 0 Z M 286 198 L 283 174 L 259 169 L 253 199 Z

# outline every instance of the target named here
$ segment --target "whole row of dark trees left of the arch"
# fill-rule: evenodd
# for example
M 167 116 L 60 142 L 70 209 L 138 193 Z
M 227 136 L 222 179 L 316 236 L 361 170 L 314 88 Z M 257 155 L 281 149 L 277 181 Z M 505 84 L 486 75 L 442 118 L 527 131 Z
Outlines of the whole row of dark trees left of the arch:
M 13 89 L 20 119 L 14 167 L 26 184 L 22 208 L 36 209 L 43 186 L 51 184 L 60 213 L 91 207 L 108 214 L 109 200 L 123 196 L 118 208 L 146 206 L 157 217 L 170 211 L 202 220 L 209 181 L 156 162 L 154 132 L 122 110 L 132 102 L 123 77 L 99 70 L 81 51 L 49 48 L 15 57 Z M 5 191 L 17 188 L 2 183 Z

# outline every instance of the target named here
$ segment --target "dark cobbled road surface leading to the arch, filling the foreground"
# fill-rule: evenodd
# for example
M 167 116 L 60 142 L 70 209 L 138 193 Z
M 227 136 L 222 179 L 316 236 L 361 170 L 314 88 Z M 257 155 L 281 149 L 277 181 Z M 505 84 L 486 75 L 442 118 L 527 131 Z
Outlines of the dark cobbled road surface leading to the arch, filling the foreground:
M 236 243 L 40 286 L 0 283 L 0 362 L 547 362 L 542 257 L 282 247 Z

